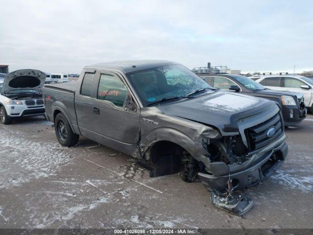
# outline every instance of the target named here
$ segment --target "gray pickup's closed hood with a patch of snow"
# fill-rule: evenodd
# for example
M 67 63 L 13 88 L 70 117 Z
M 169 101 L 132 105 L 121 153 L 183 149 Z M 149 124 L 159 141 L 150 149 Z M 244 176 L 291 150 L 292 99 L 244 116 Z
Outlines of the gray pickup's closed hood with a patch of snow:
M 237 120 L 256 115 L 273 101 L 254 96 L 218 91 L 188 100 L 156 106 L 165 115 L 197 121 L 215 126 L 221 132 L 237 132 Z

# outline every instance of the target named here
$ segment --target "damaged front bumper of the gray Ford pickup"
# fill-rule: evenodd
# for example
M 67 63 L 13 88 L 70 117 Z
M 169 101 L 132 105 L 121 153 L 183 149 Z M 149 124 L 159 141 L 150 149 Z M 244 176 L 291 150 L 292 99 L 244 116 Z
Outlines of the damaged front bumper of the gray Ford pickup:
M 224 191 L 227 188 L 227 182 L 232 180 L 234 190 L 250 188 L 271 176 L 283 163 L 288 154 L 288 145 L 283 142 L 279 147 L 269 153 L 265 153 L 260 160 L 248 166 L 246 169 L 223 176 L 214 176 L 198 173 L 201 182 L 205 187 L 212 191 Z

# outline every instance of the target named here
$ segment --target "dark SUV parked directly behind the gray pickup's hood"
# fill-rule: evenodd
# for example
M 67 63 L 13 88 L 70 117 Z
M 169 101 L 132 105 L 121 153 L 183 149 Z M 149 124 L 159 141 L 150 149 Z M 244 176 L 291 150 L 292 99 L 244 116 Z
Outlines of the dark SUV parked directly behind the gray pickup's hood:
M 253 95 L 275 101 L 282 111 L 286 126 L 299 124 L 306 118 L 303 94 L 275 91 L 242 75 L 228 73 L 198 73 L 209 85 L 225 91 Z

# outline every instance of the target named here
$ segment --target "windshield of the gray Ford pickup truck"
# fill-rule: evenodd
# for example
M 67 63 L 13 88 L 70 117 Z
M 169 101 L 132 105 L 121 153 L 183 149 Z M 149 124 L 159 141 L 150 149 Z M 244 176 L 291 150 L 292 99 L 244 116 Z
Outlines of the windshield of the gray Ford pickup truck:
M 183 97 L 200 89 L 203 92 L 206 89 L 215 90 L 182 65 L 161 66 L 126 75 L 144 106 L 169 97 Z

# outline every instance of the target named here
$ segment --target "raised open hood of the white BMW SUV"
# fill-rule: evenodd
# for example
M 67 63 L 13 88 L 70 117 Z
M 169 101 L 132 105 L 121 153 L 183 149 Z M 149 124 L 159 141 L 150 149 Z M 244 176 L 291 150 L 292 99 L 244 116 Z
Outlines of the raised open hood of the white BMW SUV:
M 8 93 L 14 90 L 36 90 L 41 91 L 45 85 L 45 73 L 39 70 L 17 70 L 6 74 L 3 84 L 2 92 Z

